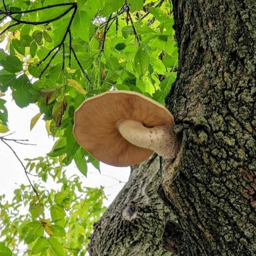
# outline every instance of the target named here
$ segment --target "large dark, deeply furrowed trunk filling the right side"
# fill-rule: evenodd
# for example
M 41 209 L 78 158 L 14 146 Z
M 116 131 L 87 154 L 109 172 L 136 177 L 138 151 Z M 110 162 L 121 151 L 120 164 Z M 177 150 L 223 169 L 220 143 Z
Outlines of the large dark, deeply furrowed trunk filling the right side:
M 256 255 L 256 1 L 172 2 L 179 67 L 166 104 L 182 145 L 160 194 L 178 255 Z

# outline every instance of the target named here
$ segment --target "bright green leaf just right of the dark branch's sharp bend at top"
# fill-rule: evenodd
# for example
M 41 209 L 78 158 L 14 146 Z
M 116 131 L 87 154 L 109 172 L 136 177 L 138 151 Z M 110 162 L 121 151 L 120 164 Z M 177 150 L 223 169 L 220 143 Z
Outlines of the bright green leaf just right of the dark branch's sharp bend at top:
M 82 40 L 89 42 L 90 23 L 91 19 L 86 11 L 78 11 L 72 23 L 72 31 L 75 31 Z

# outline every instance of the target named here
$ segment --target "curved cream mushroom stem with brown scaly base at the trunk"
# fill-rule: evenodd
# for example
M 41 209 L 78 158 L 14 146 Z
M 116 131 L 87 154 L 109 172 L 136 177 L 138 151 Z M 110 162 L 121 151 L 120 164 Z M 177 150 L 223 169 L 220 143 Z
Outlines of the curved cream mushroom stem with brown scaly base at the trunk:
M 135 146 L 151 149 L 165 158 L 173 158 L 179 152 L 180 140 L 172 125 L 147 128 L 134 119 L 123 119 L 116 125 L 125 140 Z

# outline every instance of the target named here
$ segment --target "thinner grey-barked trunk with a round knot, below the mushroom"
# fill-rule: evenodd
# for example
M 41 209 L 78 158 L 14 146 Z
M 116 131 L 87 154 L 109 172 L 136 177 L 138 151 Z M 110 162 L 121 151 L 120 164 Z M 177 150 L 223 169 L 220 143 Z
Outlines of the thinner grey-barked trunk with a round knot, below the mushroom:
M 159 198 L 159 184 L 156 154 L 132 166 L 129 180 L 94 226 L 90 256 L 172 255 L 162 246 L 162 233 L 165 222 L 174 216 Z

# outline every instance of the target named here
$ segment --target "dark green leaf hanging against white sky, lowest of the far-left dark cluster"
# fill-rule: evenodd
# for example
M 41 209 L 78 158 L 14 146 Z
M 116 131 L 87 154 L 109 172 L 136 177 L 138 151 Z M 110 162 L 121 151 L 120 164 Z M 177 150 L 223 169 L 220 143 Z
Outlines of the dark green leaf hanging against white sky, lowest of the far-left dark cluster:
M 27 107 L 29 103 L 32 103 L 29 92 L 31 88 L 31 82 L 25 74 L 17 78 L 14 82 L 12 97 L 20 108 Z

